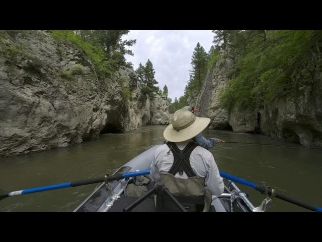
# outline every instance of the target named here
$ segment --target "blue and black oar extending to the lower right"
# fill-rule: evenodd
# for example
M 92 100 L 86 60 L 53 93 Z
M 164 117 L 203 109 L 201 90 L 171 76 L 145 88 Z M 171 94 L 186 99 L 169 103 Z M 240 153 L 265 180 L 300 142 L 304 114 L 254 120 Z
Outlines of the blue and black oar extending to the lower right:
M 226 178 L 228 180 L 234 181 L 235 183 L 243 184 L 243 185 L 245 185 L 247 187 L 253 188 L 253 189 L 255 189 L 256 191 L 259 191 L 262 194 L 268 194 L 270 196 L 279 198 L 279 199 L 284 200 L 286 202 L 293 203 L 293 204 L 298 205 L 300 207 L 309 209 L 311 211 L 322 212 L 322 208 L 312 206 L 312 205 L 310 205 L 310 204 L 308 204 L 306 202 L 300 201 L 300 200 L 298 200 L 296 198 L 289 197 L 289 196 L 284 195 L 284 194 L 280 194 L 280 193 L 276 192 L 275 189 L 268 188 L 268 187 L 266 187 L 264 185 L 257 186 L 256 184 L 251 183 L 250 181 L 240 179 L 238 177 L 235 177 L 235 176 L 223 173 L 223 172 L 219 172 L 219 173 L 220 173 L 220 176 L 223 177 L 223 178 Z

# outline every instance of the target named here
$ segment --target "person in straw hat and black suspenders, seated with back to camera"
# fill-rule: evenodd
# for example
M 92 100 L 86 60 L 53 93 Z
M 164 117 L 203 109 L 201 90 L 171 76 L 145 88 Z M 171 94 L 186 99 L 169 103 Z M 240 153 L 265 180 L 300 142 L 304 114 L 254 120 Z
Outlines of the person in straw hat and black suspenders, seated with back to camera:
M 163 181 L 188 211 L 209 211 L 211 195 L 224 191 L 223 179 L 211 152 L 198 146 L 193 138 L 210 123 L 208 117 L 196 117 L 186 109 L 173 115 L 172 124 L 164 131 L 166 144 L 156 149 L 151 178 Z M 167 195 L 156 195 L 157 211 L 178 211 Z

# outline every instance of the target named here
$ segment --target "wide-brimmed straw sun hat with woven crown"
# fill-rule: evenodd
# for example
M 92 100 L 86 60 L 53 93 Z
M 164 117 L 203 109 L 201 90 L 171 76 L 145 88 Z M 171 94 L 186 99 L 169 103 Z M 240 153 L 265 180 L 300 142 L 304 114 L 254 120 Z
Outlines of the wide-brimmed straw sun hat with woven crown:
M 186 141 L 201 133 L 209 123 L 208 117 L 196 117 L 187 109 L 179 109 L 173 114 L 173 120 L 163 136 L 170 142 Z

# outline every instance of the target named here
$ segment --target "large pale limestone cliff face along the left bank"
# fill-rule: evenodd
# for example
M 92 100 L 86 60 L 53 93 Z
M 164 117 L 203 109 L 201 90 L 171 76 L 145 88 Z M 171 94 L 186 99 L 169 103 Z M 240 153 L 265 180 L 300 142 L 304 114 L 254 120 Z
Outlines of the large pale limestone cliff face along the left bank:
M 95 70 L 82 49 L 46 31 L 0 32 L 0 158 L 164 123 L 132 69 L 110 78 Z

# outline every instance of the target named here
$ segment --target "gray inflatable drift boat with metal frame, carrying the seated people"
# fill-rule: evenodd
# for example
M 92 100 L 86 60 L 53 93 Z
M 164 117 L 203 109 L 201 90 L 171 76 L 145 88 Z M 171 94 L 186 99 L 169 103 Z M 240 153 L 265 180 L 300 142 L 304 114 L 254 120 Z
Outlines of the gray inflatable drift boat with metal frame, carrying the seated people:
M 149 174 L 150 165 L 154 151 L 160 145 L 156 145 L 141 153 L 120 167 L 112 177 L 125 176 L 123 179 L 103 182 L 95 191 L 74 211 L 75 212 L 154 212 L 155 203 L 153 196 L 142 197 L 127 196 L 124 193 L 124 183 L 127 177 L 134 175 Z M 127 176 L 127 177 L 126 177 Z M 271 203 L 271 199 L 264 199 L 259 207 L 248 199 L 248 195 L 241 192 L 238 187 L 229 179 L 225 179 L 224 193 L 220 196 L 212 196 L 210 211 L 213 212 L 253 212 L 266 211 Z M 160 185 L 162 187 L 162 184 Z M 154 189 L 156 190 L 156 189 Z M 151 191 L 151 190 L 149 190 Z M 152 194 L 153 191 L 151 191 Z M 155 191 L 154 191 L 155 192 Z M 171 195 L 170 195 L 171 196 Z M 174 201 L 175 203 L 175 201 Z M 179 205 L 180 206 L 180 205 Z

